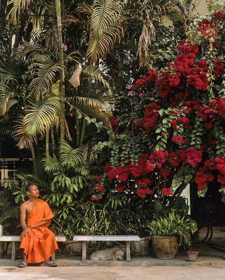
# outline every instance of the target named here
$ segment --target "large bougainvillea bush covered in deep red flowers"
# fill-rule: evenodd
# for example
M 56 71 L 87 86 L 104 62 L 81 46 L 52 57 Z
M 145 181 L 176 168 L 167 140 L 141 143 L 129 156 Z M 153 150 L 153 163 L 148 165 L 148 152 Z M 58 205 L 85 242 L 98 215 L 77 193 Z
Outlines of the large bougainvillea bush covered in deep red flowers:
M 116 139 L 93 201 L 110 192 L 134 210 L 166 204 L 192 182 L 204 196 L 216 178 L 225 202 L 224 47 L 225 7 L 195 20 L 164 68 L 126 86 L 127 111 L 118 104 L 111 118 Z

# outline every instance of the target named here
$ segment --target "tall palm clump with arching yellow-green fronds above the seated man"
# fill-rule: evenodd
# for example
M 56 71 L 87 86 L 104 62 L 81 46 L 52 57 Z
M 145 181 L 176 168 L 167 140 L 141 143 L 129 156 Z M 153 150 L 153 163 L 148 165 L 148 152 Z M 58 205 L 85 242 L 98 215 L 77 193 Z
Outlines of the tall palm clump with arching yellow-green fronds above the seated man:
M 132 43 L 132 51 L 138 53 L 140 66 L 144 67 L 155 36 L 154 18 L 167 15 L 185 22 L 184 3 L 190 2 L 93 0 L 89 5 L 65 2 L 69 12 L 59 0 L 5 3 L 8 24 L 5 30 L 16 27 L 12 33 L 15 34 L 13 53 L 8 56 L 8 65 L 5 59 L 0 69 L 0 113 L 17 116 L 13 135 L 19 148 L 30 148 L 35 159 L 37 142 L 44 139 L 45 152 L 49 154 L 57 146 L 55 139 L 64 139 L 66 135 L 74 147 L 89 144 L 90 150 L 92 137 L 99 128 L 110 130 L 110 104 L 115 101 L 112 90 L 116 90 L 116 84 L 112 89 L 107 81 L 111 69 L 104 58 L 113 51 L 125 53 L 131 35 L 138 42 Z M 69 32 L 71 25 L 81 30 L 76 31 L 77 39 L 64 33 L 64 30 Z M 31 43 L 26 43 L 29 36 Z M 70 54 L 61 49 L 63 37 L 68 39 Z M 83 67 L 80 86 L 72 88 L 68 79 L 79 62 Z

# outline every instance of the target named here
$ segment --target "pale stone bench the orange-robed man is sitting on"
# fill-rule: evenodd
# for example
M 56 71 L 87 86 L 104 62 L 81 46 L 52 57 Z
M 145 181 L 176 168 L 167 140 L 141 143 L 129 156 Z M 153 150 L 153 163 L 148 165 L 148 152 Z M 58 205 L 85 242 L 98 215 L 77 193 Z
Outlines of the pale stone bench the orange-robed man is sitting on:
M 66 236 L 55 236 L 55 239 L 57 242 L 65 242 Z M 0 257 L 2 257 L 3 254 L 3 242 L 12 242 L 12 254 L 11 254 L 11 260 L 16 260 L 16 242 L 20 242 L 20 236 L 16 235 L 3 235 L 3 226 L 0 225 Z M 51 256 L 51 260 L 55 260 L 55 254 Z

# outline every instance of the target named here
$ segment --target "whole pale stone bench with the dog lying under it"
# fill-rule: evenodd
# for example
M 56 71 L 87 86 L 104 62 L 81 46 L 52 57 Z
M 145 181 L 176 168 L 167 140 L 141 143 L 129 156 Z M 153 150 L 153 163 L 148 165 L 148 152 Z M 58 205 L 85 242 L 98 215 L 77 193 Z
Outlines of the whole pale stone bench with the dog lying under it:
M 126 242 L 126 260 L 130 261 L 130 242 L 140 241 L 137 235 L 74 235 L 74 241 L 82 241 L 82 261 L 87 258 L 87 241 L 125 241 Z

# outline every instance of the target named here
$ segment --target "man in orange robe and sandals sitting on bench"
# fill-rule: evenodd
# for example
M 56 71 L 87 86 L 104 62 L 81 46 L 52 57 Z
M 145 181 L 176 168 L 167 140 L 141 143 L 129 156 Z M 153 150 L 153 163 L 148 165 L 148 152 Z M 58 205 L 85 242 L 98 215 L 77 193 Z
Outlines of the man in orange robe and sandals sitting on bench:
M 48 204 L 38 198 L 37 185 L 29 184 L 26 190 L 30 198 L 20 206 L 20 222 L 23 228 L 20 235 L 20 251 L 23 261 L 18 267 L 26 267 L 27 263 L 41 262 L 44 262 L 45 266 L 57 266 L 50 261 L 50 257 L 59 247 L 53 232 L 48 229 L 50 219 L 54 215 Z

